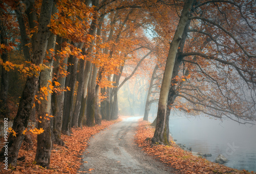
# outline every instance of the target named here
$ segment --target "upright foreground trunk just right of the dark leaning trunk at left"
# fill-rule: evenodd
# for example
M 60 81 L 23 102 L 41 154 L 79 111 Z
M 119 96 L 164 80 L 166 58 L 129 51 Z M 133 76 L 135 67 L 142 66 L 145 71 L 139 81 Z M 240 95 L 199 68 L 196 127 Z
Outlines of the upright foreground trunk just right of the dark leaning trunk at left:
M 53 11 L 55 11 L 56 7 L 53 7 Z M 48 46 L 47 50 L 55 49 L 55 43 L 56 43 L 56 35 L 51 34 L 48 40 Z M 40 88 L 47 87 L 50 85 L 48 81 L 52 81 L 52 66 L 53 66 L 53 58 L 51 55 L 51 52 L 49 51 L 47 56 L 50 57 L 48 59 L 47 57 L 45 60 L 48 60 L 49 62 L 45 62 L 45 65 L 48 68 L 45 70 L 42 70 L 40 73 Z M 49 88 L 49 87 L 48 87 Z M 51 138 L 51 124 L 50 119 L 47 115 L 51 115 L 51 93 L 48 92 L 47 99 L 44 99 L 41 101 L 41 104 L 39 105 L 38 110 L 38 120 L 37 123 L 38 129 L 42 128 L 44 129 L 44 133 L 41 133 L 37 135 L 37 149 L 36 149 L 36 156 L 35 161 L 36 164 L 42 166 L 42 167 L 49 167 L 50 164 L 50 157 L 51 157 L 51 150 L 52 150 L 52 138 Z

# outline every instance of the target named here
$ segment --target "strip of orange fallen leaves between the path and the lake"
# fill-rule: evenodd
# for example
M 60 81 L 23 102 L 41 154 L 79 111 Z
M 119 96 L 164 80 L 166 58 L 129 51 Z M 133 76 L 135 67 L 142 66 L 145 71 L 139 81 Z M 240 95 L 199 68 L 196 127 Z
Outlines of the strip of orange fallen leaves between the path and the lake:
M 142 148 L 142 150 L 144 150 L 145 153 L 160 160 L 167 166 L 175 168 L 179 173 L 256 173 L 253 171 L 249 172 L 247 170 L 237 170 L 196 157 L 192 155 L 192 153 L 181 149 L 174 141 L 170 141 L 169 146 L 160 144 L 152 146 L 151 141 L 146 141 L 147 138 L 152 138 L 155 132 L 155 127 L 150 124 L 151 123 L 147 121 L 139 121 L 135 135 L 135 142 Z

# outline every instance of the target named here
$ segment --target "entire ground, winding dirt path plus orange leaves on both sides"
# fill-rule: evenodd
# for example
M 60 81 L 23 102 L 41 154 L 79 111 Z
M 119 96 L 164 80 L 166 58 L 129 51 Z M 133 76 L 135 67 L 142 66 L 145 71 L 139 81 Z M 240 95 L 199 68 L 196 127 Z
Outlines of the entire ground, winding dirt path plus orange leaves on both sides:
M 193 156 L 173 141 L 170 146 L 152 146 L 146 141 L 154 135 L 149 122 L 138 122 L 139 117 L 121 118 L 72 129 L 70 137 L 62 135 L 67 147 L 53 146 L 48 169 L 35 164 L 36 135 L 31 135 L 33 149 L 26 150 L 23 145 L 19 151 L 19 157 L 25 156 L 25 160 L 8 171 L 0 163 L 0 173 L 255 173 Z

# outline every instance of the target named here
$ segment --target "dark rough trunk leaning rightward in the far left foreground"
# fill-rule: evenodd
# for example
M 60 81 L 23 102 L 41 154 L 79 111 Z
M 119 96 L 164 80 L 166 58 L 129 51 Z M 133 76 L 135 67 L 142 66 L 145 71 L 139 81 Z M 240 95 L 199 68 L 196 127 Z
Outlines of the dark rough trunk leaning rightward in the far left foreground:
M 32 45 L 33 56 L 31 62 L 37 66 L 42 63 L 42 60 L 45 58 L 46 48 L 49 37 L 49 28 L 47 27 L 50 24 L 51 12 L 52 12 L 52 0 L 43 0 L 39 18 L 38 32 L 36 33 L 36 40 Z M 28 125 L 29 116 L 33 107 L 33 101 L 35 97 L 35 92 L 38 85 L 38 72 L 34 75 L 28 76 L 25 84 L 22 97 L 19 101 L 19 107 L 17 115 L 13 120 L 12 129 L 17 133 L 16 137 L 10 135 L 8 138 L 8 163 L 16 165 L 18 152 L 20 146 L 22 145 L 24 139 L 24 130 Z M 2 148 L 0 157 L 4 157 L 4 150 Z

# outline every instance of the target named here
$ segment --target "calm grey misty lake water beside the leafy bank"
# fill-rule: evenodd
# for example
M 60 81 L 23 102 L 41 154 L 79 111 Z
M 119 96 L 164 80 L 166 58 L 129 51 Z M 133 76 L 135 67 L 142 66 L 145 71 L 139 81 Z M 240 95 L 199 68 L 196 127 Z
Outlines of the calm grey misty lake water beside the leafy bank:
M 176 143 L 185 144 L 192 151 L 212 154 L 207 158 L 209 161 L 223 154 L 229 160 L 224 165 L 256 171 L 255 125 L 208 117 L 170 117 L 170 133 L 177 139 Z

